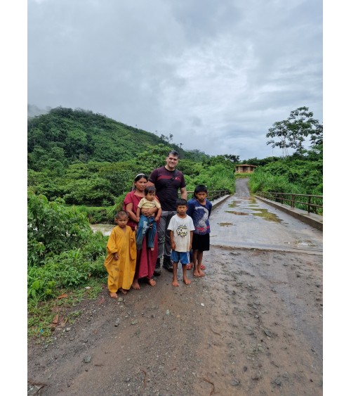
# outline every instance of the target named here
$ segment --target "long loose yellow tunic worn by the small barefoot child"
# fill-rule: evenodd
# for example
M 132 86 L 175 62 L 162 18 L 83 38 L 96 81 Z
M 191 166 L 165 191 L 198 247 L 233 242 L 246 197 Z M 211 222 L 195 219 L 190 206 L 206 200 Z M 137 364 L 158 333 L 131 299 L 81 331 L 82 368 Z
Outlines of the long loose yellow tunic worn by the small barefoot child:
M 118 260 L 114 260 L 113 253 L 118 253 Z M 117 293 L 119 288 L 126 290 L 131 288 L 135 264 L 135 233 L 130 226 L 126 226 L 126 231 L 115 226 L 107 241 L 107 257 L 105 259 L 108 273 L 107 286 L 110 293 Z

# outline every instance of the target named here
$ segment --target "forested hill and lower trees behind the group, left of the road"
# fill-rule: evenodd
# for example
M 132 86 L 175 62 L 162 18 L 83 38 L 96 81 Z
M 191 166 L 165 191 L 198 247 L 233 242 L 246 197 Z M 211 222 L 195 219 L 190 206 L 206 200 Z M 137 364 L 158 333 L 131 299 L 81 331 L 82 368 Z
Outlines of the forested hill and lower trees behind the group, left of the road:
M 68 205 L 116 207 L 135 174 L 164 165 L 171 149 L 180 153 L 178 168 L 187 175 L 190 191 L 204 181 L 208 189 L 233 191 L 233 161 L 239 157 L 184 151 L 171 137 L 67 108 L 28 121 L 28 189 Z

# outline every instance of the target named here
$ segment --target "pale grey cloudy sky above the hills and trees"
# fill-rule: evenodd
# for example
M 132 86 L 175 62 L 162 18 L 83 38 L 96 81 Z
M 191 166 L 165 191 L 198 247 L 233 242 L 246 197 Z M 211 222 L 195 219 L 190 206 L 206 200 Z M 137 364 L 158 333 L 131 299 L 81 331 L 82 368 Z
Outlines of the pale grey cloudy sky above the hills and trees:
M 321 0 L 29 0 L 28 103 L 81 108 L 185 150 L 282 155 L 265 135 L 322 115 Z

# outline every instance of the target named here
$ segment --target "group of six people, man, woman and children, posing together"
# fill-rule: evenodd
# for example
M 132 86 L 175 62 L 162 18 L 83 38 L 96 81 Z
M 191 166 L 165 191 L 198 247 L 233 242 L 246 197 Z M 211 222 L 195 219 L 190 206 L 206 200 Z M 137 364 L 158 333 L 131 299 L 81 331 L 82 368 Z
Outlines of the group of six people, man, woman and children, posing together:
M 193 269 L 194 276 L 205 275 L 202 257 L 209 250 L 212 204 L 202 184 L 187 202 L 184 174 L 176 169 L 178 161 L 178 153 L 170 151 L 166 165 L 150 177 L 143 173 L 135 176 L 133 189 L 124 198 L 123 210 L 115 217 L 117 226 L 107 242 L 105 267 L 112 298 L 117 298 L 118 291 L 125 294 L 131 287 L 140 289 L 141 279 L 155 286 L 161 260 L 162 267 L 173 273 L 173 286 L 179 286 L 178 262 L 185 284 L 190 283 L 187 269 Z

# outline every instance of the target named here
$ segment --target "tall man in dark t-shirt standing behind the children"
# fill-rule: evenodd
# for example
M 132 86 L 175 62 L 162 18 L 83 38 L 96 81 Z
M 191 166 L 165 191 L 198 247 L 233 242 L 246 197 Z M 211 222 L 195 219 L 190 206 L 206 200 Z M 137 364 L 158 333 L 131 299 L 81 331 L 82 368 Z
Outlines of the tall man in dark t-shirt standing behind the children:
M 171 241 L 168 224 L 171 217 L 176 214 L 176 200 L 178 199 L 178 190 L 180 189 L 181 198 L 187 199 L 187 189 L 185 187 L 184 174 L 176 169 L 179 161 L 177 151 L 170 151 L 166 158 L 166 165 L 159 167 L 150 174 L 148 186 L 155 186 L 157 198 L 161 204 L 162 214 L 157 226 L 158 248 L 154 275 L 161 275 L 161 257 L 164 256 L 163 267 L 169 272 L 173 272 L 171 262 Z

